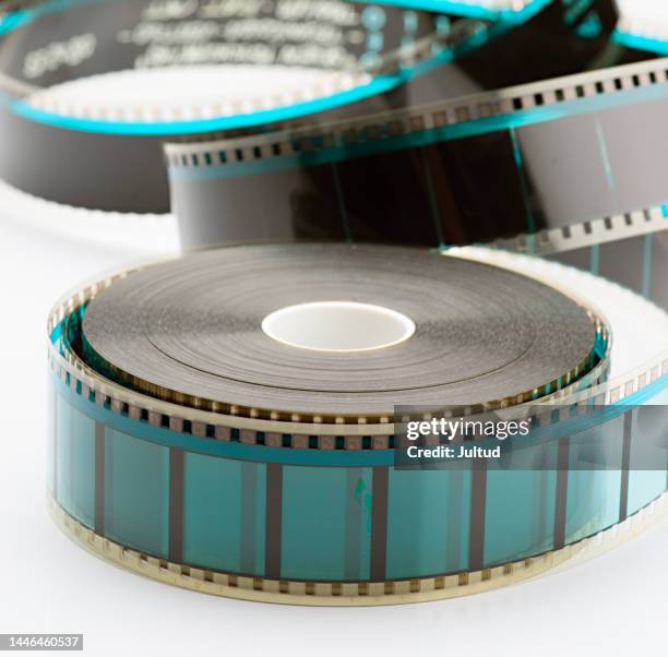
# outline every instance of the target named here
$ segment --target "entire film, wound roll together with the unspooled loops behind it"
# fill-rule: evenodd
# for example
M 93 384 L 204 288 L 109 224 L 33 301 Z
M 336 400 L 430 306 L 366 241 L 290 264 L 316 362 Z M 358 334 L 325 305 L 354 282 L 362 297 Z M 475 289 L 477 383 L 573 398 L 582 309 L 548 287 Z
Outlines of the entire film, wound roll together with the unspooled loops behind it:
M 381 605 L 522 581 L 658 517 L 668 64 L 616 25 L 607 0 L 8 12 L 0 176 L 171 204 L 192 250 L 49 318 L 65 533 L 193 590 Z M 177 70 L 190 101 L 129 100 Z M 498 459 L 466 434 L 478 456 L 408 463 L 407 422 L 438 414 L 532 429 L 492 437 Z

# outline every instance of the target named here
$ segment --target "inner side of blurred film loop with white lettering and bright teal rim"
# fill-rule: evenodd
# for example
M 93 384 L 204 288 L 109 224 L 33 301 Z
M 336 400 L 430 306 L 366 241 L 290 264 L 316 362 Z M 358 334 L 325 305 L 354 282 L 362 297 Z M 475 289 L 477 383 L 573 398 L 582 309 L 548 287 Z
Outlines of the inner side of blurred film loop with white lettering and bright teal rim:
M 9 14 L 4 22 L 3 47 L 12 56 L 5 77 L 13 88 L 25 89 L 16 94 L 14 112 L 53 127 L 138 135 L 271 122 L 314 111 L 319 98 L 322 108 L 349 103 L 355 95 L 391 88 L 393 82 L 381 77 L 455 48 L 487 25 L 395 5 L 208 0 L 44 2 Z M 88 32 L 79 34 L 84 27 Z M 255 85 L 253 91 L 239 75 L 222 94 L 215 83 L 229 81 L 216 77 L 215 70 L 207 71 L 207 79 L 196 69 L 215 65 L 251 67 L 244 75 L 253 74 L 252 67 L 277 67 L 283 84 L 265 77 L 264 88 Z M 202 84 L 208 82 L 208 94 L 194 87 L 194 97 L 189 103 L 181 97 L 180 105 L 172 101 L 174 88 L 171 96 L 156 98 L 141 96 L 141 88 L 133 89 L 139 98 L 95 97 L 104 94 L 95 87 L 99 75 L 124 72 L 123 82 L 131 84 L 133 74 L 175 67 L 189 67 Z M 301 77 L 290 80 L 291 69 Z M 93 86 L 83 95 L 76 84 Z M 366 88 L 369 84 L 378 89 Z M 226 116 L 239 118 L 226 122 Z

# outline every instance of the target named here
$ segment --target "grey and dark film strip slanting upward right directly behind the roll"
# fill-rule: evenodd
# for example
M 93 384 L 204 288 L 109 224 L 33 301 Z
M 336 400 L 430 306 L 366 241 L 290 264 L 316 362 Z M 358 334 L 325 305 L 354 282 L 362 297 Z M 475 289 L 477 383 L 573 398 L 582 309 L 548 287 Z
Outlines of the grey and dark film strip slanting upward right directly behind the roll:
M 181 241 L 576 250 L 569 262 L 668 307 L 658 277 L 665 235 L 656 236 L 668 227 L 667 62 L 317 127 L 169 143 Z

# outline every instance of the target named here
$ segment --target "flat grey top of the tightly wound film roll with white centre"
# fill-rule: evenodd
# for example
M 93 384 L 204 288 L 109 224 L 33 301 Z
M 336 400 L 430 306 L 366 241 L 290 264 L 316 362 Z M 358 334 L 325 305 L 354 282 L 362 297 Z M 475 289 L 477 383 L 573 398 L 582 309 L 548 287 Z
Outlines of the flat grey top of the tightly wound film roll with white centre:
M 294 310 L 274 316 L 282 308 Z M 81 334 L 86 362 L 152 396 L 339 425 L 386 420 L 399 403 L 540 398 L 598 381 L 607 353 L 601 321 L 532 279 L 345 244 L 240 247 L 150 267 L 94 299 Z

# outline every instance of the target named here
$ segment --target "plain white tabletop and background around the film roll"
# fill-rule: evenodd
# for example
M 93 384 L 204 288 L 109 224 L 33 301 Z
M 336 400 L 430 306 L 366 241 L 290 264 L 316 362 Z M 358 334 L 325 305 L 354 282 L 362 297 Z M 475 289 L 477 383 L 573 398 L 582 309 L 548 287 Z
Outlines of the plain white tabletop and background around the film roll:
M 45 505 L 46 315 L 82 279 L 172 252 L 176 229 L 170 218 L 84 217 L 10 196 L 0 188 L 1 633 L 84 633 L 91 655 L 668 654 L 666 522 L 559 574 L 468 598 L 369 609 L 215 598 L 85 553 Z

